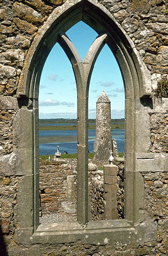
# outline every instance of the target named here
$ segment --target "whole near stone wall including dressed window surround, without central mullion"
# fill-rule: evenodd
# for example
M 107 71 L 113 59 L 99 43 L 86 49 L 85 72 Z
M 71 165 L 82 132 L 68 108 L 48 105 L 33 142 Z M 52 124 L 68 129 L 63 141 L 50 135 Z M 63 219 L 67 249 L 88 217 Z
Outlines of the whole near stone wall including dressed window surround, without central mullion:
M 0 0 L 0 8 L 1 255 L 166 255 L 166 1 Z M 64 24 L 66 31 L 79 20 L 110 35 L 106 42 L 123 74 L 126 215 L 123 220 L 99 225 L 95 221 L 85 227 L 76 222 L 64 229 L 45 224 L 50 230 L 46 232 L 44 226 L 34 225 L 39 212 L 39 173 L 34 174 L 38 80 L 52 47 L 49 43 L 57 41 L 57 29 L 65 29 Z

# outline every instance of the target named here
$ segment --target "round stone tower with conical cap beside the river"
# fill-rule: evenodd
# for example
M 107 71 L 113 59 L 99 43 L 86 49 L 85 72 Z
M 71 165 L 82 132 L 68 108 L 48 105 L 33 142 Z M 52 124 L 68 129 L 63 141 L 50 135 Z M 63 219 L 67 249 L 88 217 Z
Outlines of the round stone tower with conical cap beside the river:
M 96 137 L 93 161 L 97 166 L 108 164 L 111 150 L 111 101 L 102 91 L 96 102 Z

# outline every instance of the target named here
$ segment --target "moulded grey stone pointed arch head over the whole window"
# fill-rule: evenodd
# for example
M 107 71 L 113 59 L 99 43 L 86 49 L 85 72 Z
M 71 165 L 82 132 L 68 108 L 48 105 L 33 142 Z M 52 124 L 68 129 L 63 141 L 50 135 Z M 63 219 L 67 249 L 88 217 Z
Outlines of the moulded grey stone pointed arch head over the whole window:
M 95 0 L 67 0 L 63 6 L 53 10 L 47 21 L 38 30 L 26 56 L 17 96 L 38 97 L 38 88 L 34 90 L 34 86 L 39 84 L 43 65 L 51 48 L 58 40 L 59 32 L 66 32 L 81 20 L 98 34 L 109 35 L 107 44 L 120 66 L 126 98 L 151 94 L 149 71 L 142 62 L 133 42 L 110 12 Z

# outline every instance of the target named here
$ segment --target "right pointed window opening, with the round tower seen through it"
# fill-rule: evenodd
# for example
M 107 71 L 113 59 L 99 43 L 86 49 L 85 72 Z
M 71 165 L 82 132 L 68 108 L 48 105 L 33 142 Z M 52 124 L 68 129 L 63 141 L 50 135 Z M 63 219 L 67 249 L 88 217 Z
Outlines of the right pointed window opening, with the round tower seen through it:
M 94 157 L 91 161 L 96 164 L 98 170 L 90 173 L 91 218 L 92 220 L 105 220 L 107 217 L 105 205 L 109 208 L 108 211 L 113 210 L 113 215 L 111 214 L 108 219 L 124 218 L 125 94 L 121 71 L 106 44 L 95 62 L 89 86 L 89 118 L 93 118 L 93 113 L 96 118 L 96 130 L 92 137 L 91 150 L 94 151 Z M 91 130 L 88 130 L 88 137 L 90 133 Z M 109 164 L 111 152 L 115 157 L 113 164 L 118 165 L 117 175 L 103 177 L 103 165 Z M 116 161 L 117 156 L 122 157 L 120 164 Z M 105 192 L 105 183 L 109 186 L 116 184 L 115 193 Z M 111 197 L 107 198 L 106 195 L 111 195 Z M 105 199 L 108 200 L 105 202 Z

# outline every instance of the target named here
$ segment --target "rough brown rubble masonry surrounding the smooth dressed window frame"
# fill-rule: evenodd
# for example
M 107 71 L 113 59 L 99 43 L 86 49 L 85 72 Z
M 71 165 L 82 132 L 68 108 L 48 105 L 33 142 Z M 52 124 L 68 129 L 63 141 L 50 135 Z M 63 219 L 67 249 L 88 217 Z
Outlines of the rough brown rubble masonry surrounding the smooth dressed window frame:
M 12 120 L 16 120 L 19 108 L 29 108 L 31 103 L 16 99 L 16 90 L 20 79 L 20 74 L 24 66 L 25 58 L 34 38 L 38 35 L 42 24 L 46 22 L 49 14 L 62 6 L 65 0 L 0 0 L 0 40 L 1 40 L 1 64 L 0 64 L 0 98 L 8 102 L 8 109 L 2 105 L 1 115 L 1 137 L 0 154 L 0 219 L 2 237 L 0 241 L 0 251 L 3 255 L 166 255 L 166 230 L 167 220 L 165 214 L 165 201 L 167 187 L 166 173 L 148 173 L 144 177 L 145 185 L 145 205 L 148 216 L 158 223 L 157 241 L 139 243 L 134 242 L 125 245 L 92 245 L 83 241 L 69 244 L 18 244 L 16 243 L 15 229 L 18 228 L 18 218 L 22 212 L 18 209 L 20 194 L 18 188 L 24 179 L 24 175 L 14 175 L 13 169 L 20 167 L 20 159 L 16 154 L 16 141 L 14 138 L 14 125 Z M 140 58 L 151 73 L 153 93 L 160 86 L 160 81 L 168 80 L 168 17 L 166 16 L 165 0 L 99 0 L 105 6 L 113 18 L 122 26 Z M 29 15 L 28 15 L 29 14 Z M 165 90 L 165 88 L 164 88 Z M 156 94 L 157 96 L 157 94 Z M 162 105 L 167 94 L 158 95 L 163 98 L 155 98 L 158 112 L 166 113 Z M 154 99 L 152 99 L 154 102 Z M 2 100 L 3 101 L 3 100 Z M 22 103 L 22 104 L 21 104 Z M 5 105 L 6 106 L 6 105 Z M 145 106 L 144 106 L 145 109 Z M 20 111 L 20 110 L 19 110 Z M 151 107 L 152 111 L 152 107 Z M 163 113 L 162 113 L 163 114 Z M 161 114 L 161 115 L 162 115 Z M 154 116 L 155 115 L 155 116 Z M 164 140 L 164 125 L 158 126 L 157 120 L 164 119 L 158 113 L 151 114 L 151 147 L 149 152 L 164 153 L 166 150 Z M 153 121 L 152 121 L 153 120 Z M 154 127 L 156 126 L 158 128 Z M 161 122 L 162 123 L 162 122 Z M 143 128 L 143 127 L 142 127 Z M 155 132 L 156 131 L 156 132 Z M 160 140 L 157 139 L 160 136 Z M 22 148 L 23 149 L 23 148 Z M 17 160 L 14 168 L 11 169 L 11 158 Z M 23 156 L 24 158 L 24 156 Z M 26 158 L 25 158 L 26 159 Z M 26 161 L 26 160 L 25 160 Z M 12 162 L 13 163 L 13 162 Z M 25 163 L 25 162 L 24 162 Z M 4 168 L 5 166 L 5 168 Z M 7 168 L 12 172 L 7 173 Z M 17 169 L 18 170 L 18 169 Z M 5 174 L 4 174 L 5 173 Z M 145 178 L 147 176 L 147 178 Z M 157 178 L 156 178 L 157 177 Z M 161 180 L 160 180 L 161 178 Z M 160 188 L 157 187 L 157 183 Z M 160 183 L 162 182 L 162 183 Z M 163 184 L 163 185 L 162 185 Z M 150 206 L 150 207 L 149 207 Z M 7 252 L 6 252 L 7 251 Z

